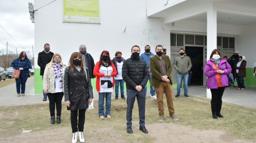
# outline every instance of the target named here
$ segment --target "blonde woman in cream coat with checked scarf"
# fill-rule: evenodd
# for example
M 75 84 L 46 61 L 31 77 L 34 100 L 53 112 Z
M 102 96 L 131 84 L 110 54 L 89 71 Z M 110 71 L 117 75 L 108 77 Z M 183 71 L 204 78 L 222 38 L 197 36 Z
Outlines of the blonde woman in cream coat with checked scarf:
M 61 101 L 63 98 L 63 77 L 66 65 L 62 63 L 61 55 L 55 53 L 44 71 L 43 90 L 49 99 L 51 124 L 55 123 L 55 104 L 57 124 L 61 123 Z

